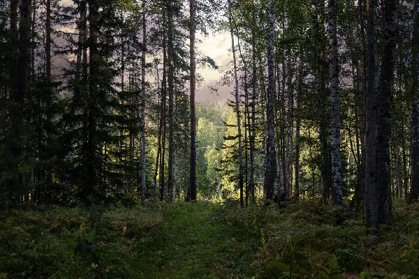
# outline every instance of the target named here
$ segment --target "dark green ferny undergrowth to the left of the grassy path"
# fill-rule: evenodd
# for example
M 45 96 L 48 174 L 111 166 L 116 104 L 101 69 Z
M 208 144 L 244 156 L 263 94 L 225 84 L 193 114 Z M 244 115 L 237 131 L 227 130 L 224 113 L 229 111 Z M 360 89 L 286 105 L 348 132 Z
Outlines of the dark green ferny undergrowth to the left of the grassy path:
M 138 218 L 135 223 L 138 233 L 131 234 L 130 238 L 126 237 L 124 229 L 115 227 L 115 223 L 126 219 L 118 213 L 113 216 L 115 223 L 108 217 L 101 218 L 96 222 L 96 229 L 91 229 L 90 212 L 86 209 L 36 206 L 24 211 L 3 211 L 0 216 L 0 276 L 94 278 L 103 274 L 132 278 L 129 250 L 137 245 L 133 239 L 140 239 L 140 232 L 147 226 L 156 225 L 142 220 L 158 223 L 161 215 L 142 207 L 137 211 L 119 209 Z M 117 211 L 108 209 L 113 210 Z

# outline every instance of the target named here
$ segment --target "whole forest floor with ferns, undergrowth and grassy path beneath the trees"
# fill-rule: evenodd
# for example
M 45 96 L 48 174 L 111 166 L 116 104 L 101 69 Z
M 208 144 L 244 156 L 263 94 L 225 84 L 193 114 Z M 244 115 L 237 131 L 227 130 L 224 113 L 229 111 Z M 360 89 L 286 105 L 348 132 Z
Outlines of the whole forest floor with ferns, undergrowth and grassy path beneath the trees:
M 419 204 L 394 212 L 370 246 L 360 213 L 316 200 L 20 206 L 0 211 L 0 278 L 419 278 Z

